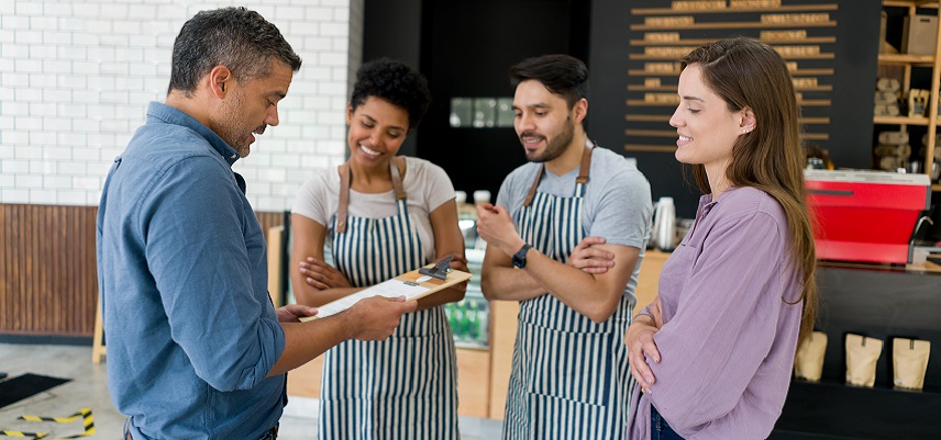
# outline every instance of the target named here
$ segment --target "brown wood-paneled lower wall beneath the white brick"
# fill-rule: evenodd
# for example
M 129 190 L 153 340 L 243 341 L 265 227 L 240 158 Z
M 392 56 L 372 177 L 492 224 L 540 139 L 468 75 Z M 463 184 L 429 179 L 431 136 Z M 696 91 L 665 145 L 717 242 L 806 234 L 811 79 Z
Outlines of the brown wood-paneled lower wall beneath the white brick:
M 90 337 L 97 206 L 0 204 L 0 334 Z M 263 230 L 284 213 L 257 213 Z

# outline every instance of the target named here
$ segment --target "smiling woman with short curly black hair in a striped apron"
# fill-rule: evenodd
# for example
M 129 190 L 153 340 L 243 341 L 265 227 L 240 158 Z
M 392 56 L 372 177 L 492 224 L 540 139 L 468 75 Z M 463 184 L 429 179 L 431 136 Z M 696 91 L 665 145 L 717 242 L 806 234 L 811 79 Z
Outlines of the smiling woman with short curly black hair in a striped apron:
M 446 256 L 467 270 L 447 174 L 396 156 L 430 101 L 424 78 L 399 61 L 367 63 L 356 74 L 350 159 L 307 181 L 294 205 L 298 303 L 323 305 Z M 463 297 L 464 284 L 427 296 L 388 340 L 328 351 L 318 438 L 457 439 L 454 339 L 441 306 Z

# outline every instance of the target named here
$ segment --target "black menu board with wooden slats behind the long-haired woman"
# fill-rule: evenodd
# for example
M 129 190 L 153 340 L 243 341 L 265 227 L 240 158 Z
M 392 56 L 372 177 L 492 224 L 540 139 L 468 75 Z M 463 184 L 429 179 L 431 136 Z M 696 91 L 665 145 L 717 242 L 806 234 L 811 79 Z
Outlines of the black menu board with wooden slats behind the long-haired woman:
M 801 139 L 838 165 L 868 167 L 879 0 L 596 0 L 593 8 L 590 135 L 635 157 L 654 199 L 687 194 L 680 215 L 691 216 L 698 191 L 673 157 L 678 60 L 716 40 L 746 36 L 777 50 L 794 81 Z

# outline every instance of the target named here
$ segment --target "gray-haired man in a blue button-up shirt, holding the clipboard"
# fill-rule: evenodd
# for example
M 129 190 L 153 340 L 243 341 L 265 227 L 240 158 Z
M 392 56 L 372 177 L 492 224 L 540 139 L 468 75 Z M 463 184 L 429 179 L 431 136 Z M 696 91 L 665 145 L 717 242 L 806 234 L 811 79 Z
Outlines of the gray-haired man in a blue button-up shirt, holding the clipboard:
M 199 12 L 174 44 L 166 103 L 151 103 L 108 173 L 98 281 L 126 439 L 275 439 L 288 370 L 385 339 L 416 308 L 373 297 L 300 323 L 317 311 L 272 304 L 264 234 L 232 165 L 278 125 L 300 65 L 257 12 Z

